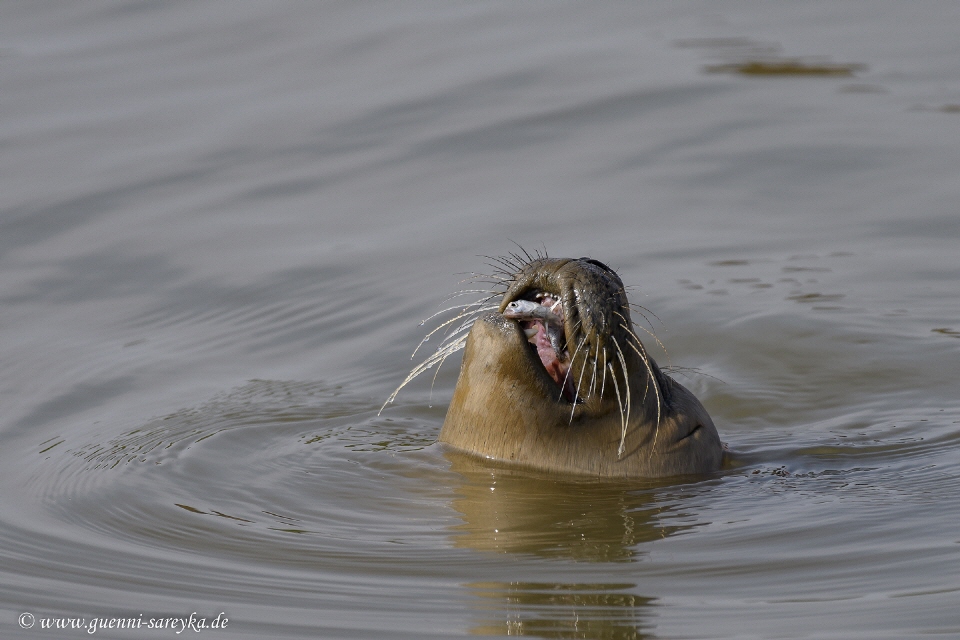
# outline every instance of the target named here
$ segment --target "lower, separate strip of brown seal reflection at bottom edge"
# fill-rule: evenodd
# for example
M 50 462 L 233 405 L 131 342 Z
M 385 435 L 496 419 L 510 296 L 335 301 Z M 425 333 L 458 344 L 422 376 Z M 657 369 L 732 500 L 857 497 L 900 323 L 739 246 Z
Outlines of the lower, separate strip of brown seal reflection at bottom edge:
M 632 584 L 477 582 L 467 585 L 491 617 L 477 635 L 537 638 L 645 638 L 654 600 L 628 593 Z M 503 611 L 506 618 L 503 618 Z

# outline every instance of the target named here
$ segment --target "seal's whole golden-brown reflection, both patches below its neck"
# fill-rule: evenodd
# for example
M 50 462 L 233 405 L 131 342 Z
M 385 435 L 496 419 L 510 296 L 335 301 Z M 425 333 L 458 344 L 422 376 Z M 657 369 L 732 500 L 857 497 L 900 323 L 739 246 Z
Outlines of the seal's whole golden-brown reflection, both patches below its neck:
M 662 481 L 551 477 L 494 466 L 452 451 L 463 477 L 452 506 L 463 517 L 453 544 L 481 552 L 580 562 L 636 562 L 641 543 L 689 526 L 665 525 L 652 489 Z M 582 575 L 582 574 L 581 574 Z M 594 574 L 595 575 L 595 574 Z M 589 578 L 588 578 L 589 579 Z M 654 598 L 635 584 L 472 582 L 482 612 L 471 632 L 541 638 L 643 638 Z

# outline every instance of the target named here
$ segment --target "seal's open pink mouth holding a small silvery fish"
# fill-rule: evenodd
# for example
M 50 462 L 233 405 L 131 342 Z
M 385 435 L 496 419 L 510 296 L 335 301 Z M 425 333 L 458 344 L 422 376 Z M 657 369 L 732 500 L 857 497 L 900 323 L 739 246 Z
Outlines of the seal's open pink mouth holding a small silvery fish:
M 503 310 L 506 318 L 516 320 L 535 350 L 547 375 L 556 383 L 561 396 L 569 402 L 576 398 L 570 372 L 570 352 L 565 331 L 563 302 L 556 294 L 530 291 L 511 301 Z

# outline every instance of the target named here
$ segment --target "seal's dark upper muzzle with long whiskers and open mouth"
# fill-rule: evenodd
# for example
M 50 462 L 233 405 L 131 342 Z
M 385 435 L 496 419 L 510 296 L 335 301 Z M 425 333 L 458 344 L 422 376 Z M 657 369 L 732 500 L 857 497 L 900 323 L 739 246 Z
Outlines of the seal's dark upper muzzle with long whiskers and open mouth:
M 643 345 L 630 329 L 632 323 L 620 277 L 591 258 L 555 259 L 526 252 L 524 256 L 492 258 L 494 273 L 477 274 L 475 280 L 492 283 L 492 289 L 465 289 L 450 296 L 484 293 L 485 297 L 443 309 L 424 320 L 456 312 L 423 337 L 413 355 L 431 336 L 446 332 L 436 351 L 410 371 L 384 407 L 411 380 L 434 366 L 439 369 L 447 358 L 466 347 L 477 320 L 495 315 L 499 329 L 505 328 L 504 320 L 512 320 L 517 323 L 516 329 L 524 332 L 524 346 L 529 349 L 524 356 L 534 367 L 531 373 L 542 382 L 553 381 L 558 401 L 576 408 L 596 399 L 594 405 L 601 410 L 603 399 L 612 397 L 605 389 L 612 388 L 626 424 L 630 413 L 627 361 L 635 353 L 648 373 L 653 373 Z M 516 337 L 520 338 L 519 334 Z M 536 370 L 540 366 L 546 378 L 541 378 Z M 460 389 L 459 383 L 457 388 Z M 570 415 L 572 420 L 574 413 Z

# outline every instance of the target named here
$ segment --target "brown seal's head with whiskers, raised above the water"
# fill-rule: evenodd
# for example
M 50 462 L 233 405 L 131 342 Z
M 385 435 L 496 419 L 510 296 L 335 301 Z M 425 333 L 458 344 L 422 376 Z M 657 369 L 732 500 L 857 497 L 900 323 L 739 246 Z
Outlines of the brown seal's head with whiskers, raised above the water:
M 465 346 L 440 442 L 600 478 L 719 469 L 723 445 L 713 421 L 647 353 L 613 269 L 539 253 L 498 260 L 491 277 L 500 290 L 427 334 L 466 318 L 400 386 Z

